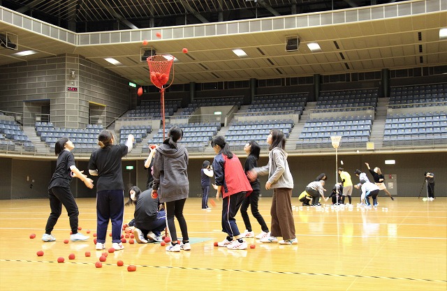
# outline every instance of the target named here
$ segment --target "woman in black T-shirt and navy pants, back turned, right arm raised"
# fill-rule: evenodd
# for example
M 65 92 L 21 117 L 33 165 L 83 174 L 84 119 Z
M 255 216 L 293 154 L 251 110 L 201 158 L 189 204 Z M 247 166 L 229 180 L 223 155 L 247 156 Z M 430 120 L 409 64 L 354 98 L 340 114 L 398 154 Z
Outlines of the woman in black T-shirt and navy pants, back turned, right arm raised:
M 114 144 L 115 137 L 109 130 L 98 135 L 101 148 L 91 153 L 89 172 L 98 176 L 96 184 L 96 225 L 98 239 L 96 250 L 105 248 L 105 234 L 109 221 L 112 221 L 112 248 L 124 249 L 121 233 L 124 217 L 124 181 L 122 157 L 133 147 L 133 135 L 127 137 L 126 144 Z

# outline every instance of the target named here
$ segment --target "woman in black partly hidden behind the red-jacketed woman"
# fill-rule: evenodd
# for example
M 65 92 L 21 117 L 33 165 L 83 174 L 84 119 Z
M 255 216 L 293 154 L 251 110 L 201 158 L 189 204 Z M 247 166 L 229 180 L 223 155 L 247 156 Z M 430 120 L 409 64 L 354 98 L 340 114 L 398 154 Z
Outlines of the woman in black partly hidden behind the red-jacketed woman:
M 247 160 L 245 160 L 244 172 L 249 172 L 249 170 L 254 167 L 258 167 L 258 158 L 261 153 L 261 147 L 254 140 L 251 142 L 247 142 L 244 147 L 245 153 L 248 155 Z M 251 206 L 251 214 L 253 214 L 254 218 L 258 221 L 259 225 L 261 225 L 261 233 L 256 235 L 256 239 L 263 239 L 264 237 L 269 237 L 268 226 L 265 224 L 263 216 L 259 213 L 258 210 L 258 201 L 259 201 L 259 192 L 261 191 L 261 184 L 259 180 L 256 179 L 250 182 L 251 188 L 253 188 L 253 192 L 248 197 L 245 197 L 242 202 L 242 206 L 240 207 L 240 214 L 242 215 L 242 219 L 244 220 L 245 227 L 247 230 L 244 232 L 244 237 L 254 237 L 254 232 L 251 229 L 251 223 L 249 214 L 247 213 L 247 209 L 249 205 Z

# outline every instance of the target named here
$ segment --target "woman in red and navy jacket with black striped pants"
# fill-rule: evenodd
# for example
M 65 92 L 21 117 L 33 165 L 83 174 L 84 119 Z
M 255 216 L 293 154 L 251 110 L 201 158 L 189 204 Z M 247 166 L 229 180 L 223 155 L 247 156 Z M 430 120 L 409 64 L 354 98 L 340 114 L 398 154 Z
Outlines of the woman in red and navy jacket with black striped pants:
M 222 195 L 222 231 L 227 234 L 226 239 L 219 241 L 217 245 L 232 250 L 245 250 L 247 242 L 242 239 L 244 234 L 240 233 L 235 216 L 252 189 L 239 158 L 230 151 L 225 139 L 222 136 L 214 137 L 211 146 L 216 153 L 212 163 L 216 180 L 214 188 L 217 190 L 216 199 Z

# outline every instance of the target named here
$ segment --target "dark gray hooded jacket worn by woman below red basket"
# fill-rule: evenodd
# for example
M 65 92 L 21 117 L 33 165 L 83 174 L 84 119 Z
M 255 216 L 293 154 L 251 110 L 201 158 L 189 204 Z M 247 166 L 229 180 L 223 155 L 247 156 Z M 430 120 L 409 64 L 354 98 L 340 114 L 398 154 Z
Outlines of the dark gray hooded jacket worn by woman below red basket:
M 188 151 L 181 144 L 171 148 L 161 144 L 154 157 L 154 184 L 160 202 L 186 199 L 189 193 Z

